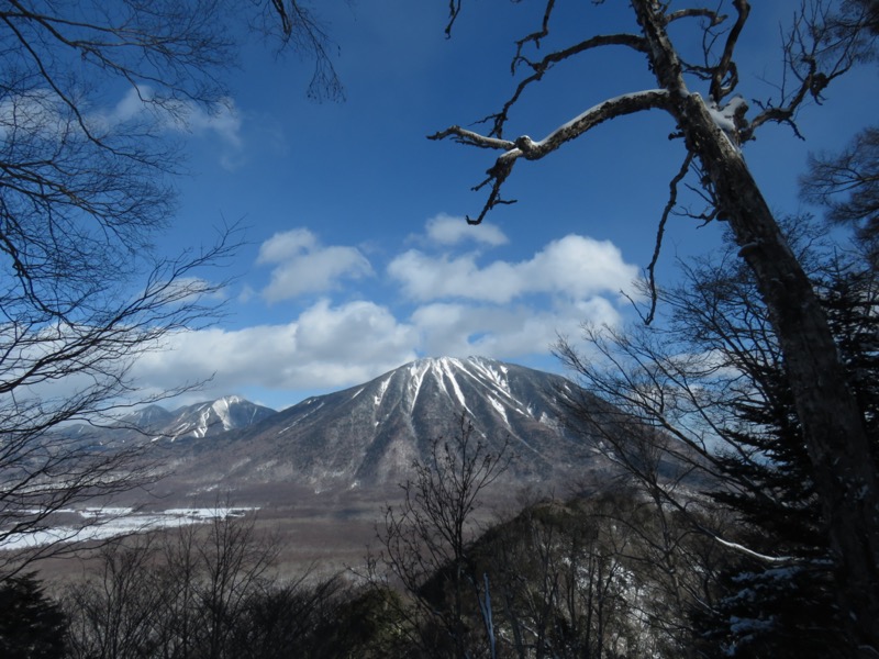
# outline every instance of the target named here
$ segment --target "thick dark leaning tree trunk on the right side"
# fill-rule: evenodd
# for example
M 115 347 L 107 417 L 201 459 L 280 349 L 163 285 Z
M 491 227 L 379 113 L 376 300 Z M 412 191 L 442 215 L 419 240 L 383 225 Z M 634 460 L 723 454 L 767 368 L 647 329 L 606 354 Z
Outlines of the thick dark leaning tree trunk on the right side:
M 793 391 L 836 562 L 841 619 L 854 656 L 879 657 L 879 496 L 872 449 L 812 286 L 738 147 L 691 94 L 658 3 L 633 0 L 669 111 L 706 172 L 739 255 L 754 270 Z

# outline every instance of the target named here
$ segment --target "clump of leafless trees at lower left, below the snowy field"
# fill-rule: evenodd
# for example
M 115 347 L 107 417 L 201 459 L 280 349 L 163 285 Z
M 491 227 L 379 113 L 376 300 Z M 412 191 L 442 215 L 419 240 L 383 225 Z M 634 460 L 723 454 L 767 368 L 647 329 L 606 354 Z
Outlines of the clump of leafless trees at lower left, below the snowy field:
M 277 644 L 297 634 L 305 638 L 324 623 L 342 589 L 335 579 L 312 588 L 308 572 L 277 581 L 271 567 L 278 544 L 257 532 L 254 516 L 226 512 L 218 509 L 209 524 L 103 546 L 63 599 L 71 656 L 289 656 L 290 648 Z M 286 633 L 281 638 L 278 626 Z

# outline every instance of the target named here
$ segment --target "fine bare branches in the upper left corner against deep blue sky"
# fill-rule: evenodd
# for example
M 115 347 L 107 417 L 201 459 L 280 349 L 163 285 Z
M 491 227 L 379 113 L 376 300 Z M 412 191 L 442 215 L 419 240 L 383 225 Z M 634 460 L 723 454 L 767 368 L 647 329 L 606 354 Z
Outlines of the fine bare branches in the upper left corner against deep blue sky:
M 327 36 L 312 13 L 292 0 L 255 11 L 260 4 L 283 19 L 285 43 L 315 58 L 312 93 L 336 93 Z M 223 0 L 122 0 L 0 10 L 5 321 L 37 312 L 41 325 L 77 321 L 131 291 L 108 284 L 143 276 L 138 256 L 151 254 L 175 206 L 168 175 L 180 158 L 169 134 L 197 109 L 224 110 L 218 74 L 242 35 L 232 9 Z M 120 98 L 108 89 L 130 102 L 113 109 Z

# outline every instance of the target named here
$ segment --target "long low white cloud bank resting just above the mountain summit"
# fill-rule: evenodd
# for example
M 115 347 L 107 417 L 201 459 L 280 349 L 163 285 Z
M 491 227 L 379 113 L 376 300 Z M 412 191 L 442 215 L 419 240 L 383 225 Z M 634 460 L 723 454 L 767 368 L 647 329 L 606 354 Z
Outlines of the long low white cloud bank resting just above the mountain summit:
M 434 303 L 409 321 L 374 302 L 321 300 L 286 324 L 175 334 L 165 350 L 138 358 L 132 376 L 147 393 L 212 378 L 188 402 L 243 389 L 343 389 L 421 355 L 515 360 L 547 354 L 559 333 L 579 335 L 583 321 L 615 324 L 619 315 L 602 298 L 545 311 Z

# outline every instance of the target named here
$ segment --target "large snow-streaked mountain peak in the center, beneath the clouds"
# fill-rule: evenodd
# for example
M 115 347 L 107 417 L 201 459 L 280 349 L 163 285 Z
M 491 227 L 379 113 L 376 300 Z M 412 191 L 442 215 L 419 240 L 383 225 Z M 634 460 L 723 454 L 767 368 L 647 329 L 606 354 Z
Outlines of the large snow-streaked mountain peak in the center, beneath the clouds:
M 207 485 L 286 482 L 313 489 L 396 484 L 426 461 L 431 443 L 460 433 L 496 451 L 509 442 L 509 477 L 546 482 L 598 460 L 566 422 L 565 399 L 591 400 L 559 376 L 481 357 L 421 359 L 360 384 L 302 401 L 209 444 L 188 443 L 178 469 Z M 178 454 L 179 457 L 182 457 Z

